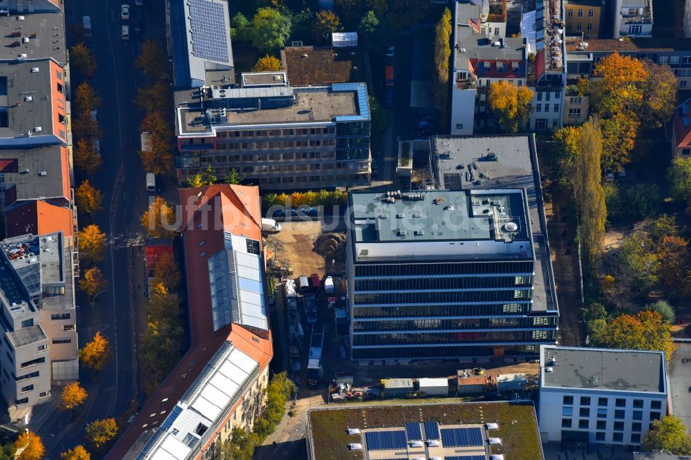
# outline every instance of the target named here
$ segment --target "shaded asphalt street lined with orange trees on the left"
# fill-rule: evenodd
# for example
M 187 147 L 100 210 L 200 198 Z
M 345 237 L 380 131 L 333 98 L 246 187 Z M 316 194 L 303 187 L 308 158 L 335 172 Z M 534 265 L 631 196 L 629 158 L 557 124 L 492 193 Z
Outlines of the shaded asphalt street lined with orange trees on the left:
M 85 15 L 91 17 L 93 27 L 90 43 L 98 68 L 90 83 L 102 99 L 98 119 L 104 131 L 100 140 L 104 162 L 93 182 L 105 197 L 104 211 L 95 215 L 93 220 L 108 233 L 109 241 L 106 258 L 100 264 L 108 280 L 106 291 L 98 296 L 93 310 L 89 306 L 91 299 L 80 298 L 80 294 L 77 297 L 82 305 L 77 314 L 79 347 L 100 331 L 110 341 L 113 356 L 98 376 L 81 371 L 82 386 L 88 391 L 89 398 L 77 410 L 77 420 L 70 423 L 70 414 L 56 412 L 44 425 L 41 432 L 53 434 L 44 437 L 46 454 L 56 454 L 84 443 L 86 423 L 117 417 L 137 397 L 127 246 L 144 235 L 138 218 L 146 209 L 149 196 L 137 153 L 140 148 L 138 125 L 142 114 L 133 104 L 133 99 L 143 77 L 137 72 L 134 61 L 144 37 L 153 37 L 164 43 L 163 2 L 147 1 L 145 6 L 135 6 L 133 1 L 130 2 L 132 21 L 129 23 L 140 20 L 143 35 L 132 36 L 129 41 L 120 37 L 120 26 L 127 23 L 120 19 L 121 1 L 66 0 L 65 3 L 68 31 L 74 30 L 75 25 L 78 27 Z M 74 41 L 68 32 L 70 39 Z M 77 83 L 72 82 L 73 90 Z M 76 115 L 73 113 L 73 117 Z

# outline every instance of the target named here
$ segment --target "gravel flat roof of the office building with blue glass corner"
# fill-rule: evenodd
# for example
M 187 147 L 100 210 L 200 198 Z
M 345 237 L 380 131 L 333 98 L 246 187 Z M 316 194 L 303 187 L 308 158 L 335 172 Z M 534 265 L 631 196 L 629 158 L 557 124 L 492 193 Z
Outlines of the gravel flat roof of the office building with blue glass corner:
M 337 121 L 369 120 L 369 103 L 367 88 L 364 83 L 333 84 L 313 88 L 241 88 L 225 91 L 229 99 L 261 99 L 273 97 L 274 93 L 283 91 L 292 102 L 288 106 L 276 108 L 234 109 L 227 108 L 224 99 L 213 99 L 205 107 L 213 110 L 225 110 L 223 118 L 209 122 L 209 117 L 201 108 L 179 107 L 178 127 L 180 135 L 212 133 L 217 128 L 234 128 L 236 126 L 274 125 L 274 124 L 326 124 Z M 182 97 L 180 95 L 179 97 Z M 287 100 L 287 99 L 286 99 Z M 287 105 L 287 104 L 286 104 Z

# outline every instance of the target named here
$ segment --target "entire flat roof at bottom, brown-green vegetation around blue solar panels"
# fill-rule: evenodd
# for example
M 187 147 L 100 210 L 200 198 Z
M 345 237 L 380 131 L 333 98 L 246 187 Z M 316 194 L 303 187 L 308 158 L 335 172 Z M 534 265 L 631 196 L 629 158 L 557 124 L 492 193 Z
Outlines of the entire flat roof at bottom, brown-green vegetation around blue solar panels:
M 421 421 L 423 423 L 421 423 Z M 504 454 L 507 459 L 535 459 L 544 458 L 535 408 L 531 403 L 482 402 L 482 403 L 454 403 L 448 401 L 440 404 L 429 404 L 422 401 L 408 401 L 405 405 L 381 404 L 358 405 L 353 408 L 310 409 L 307 412 L 307 430 L 309 441 L 307 448 L 311 450 L 314 460 L 330 459 L 391 459 L 415 457 L 446 457 L 446 437 L 442 436 L 439 447 L 408 448 L 391 450 L 350 450 L 350 443 L 366 445 L 367 432 L 404 431 L 408 432 L 407 422 L 418 423 L 418 430 L 412 432 L 424 433 L 428 436 L 428 426 L 424 422 L 437 422 L 437 431 L 453 428 L 481 428 L 482 445 L 459 445 L 458 454 L 481 454 L 482 458 L 491 458 L 493 454 Z M 498 423 L 497 430 L 486 430 L 485 423 Z M 412 425 L 412 424 L 411 424 Z M 348 428 L 357 428 L 359 434 L 348 434 Z M 415 428 L 413 425 L 410 428 Z M 383 430 L 384 429 L 384 430 Z M 437 432 L 437 437 L 439 433 Z M 406 434 L 409 437 L 410 434 Z M 486 439 L 497 437 L 500 445 L 488 445 Z M 370 446 L 371 447 L 371 446 Z M 439 449 L 435 451 L 435 449 Z M 470 452 L 474 450 L 474 452 Z M 419 452 L 418 452 L 419 451 Z M 425 453 L 430 453 L 429 456 Z M 422 454 L 420 454 L 422 453 Z M 446 455 L 444 455 L 446 453 Z M 447 457 L 448 458 L 448 457 Z

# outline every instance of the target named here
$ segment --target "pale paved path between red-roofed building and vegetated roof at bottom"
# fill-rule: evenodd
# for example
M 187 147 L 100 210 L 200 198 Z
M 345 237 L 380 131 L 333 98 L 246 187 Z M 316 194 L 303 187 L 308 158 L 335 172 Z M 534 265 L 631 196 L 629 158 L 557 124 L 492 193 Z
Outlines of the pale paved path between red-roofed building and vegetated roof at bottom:
M 298 449 L 304 444 L 307 430 L 307 410 L 325 406 L 321 394 L 309 398 L 299 399 L 292 409 L 293 416 L 287 414 L 290 410 L 289 402 L 286 404 L 285 415 L 276 430 L 269 434 L 263 445 L 254 451 L 254 460 L 290 460 L 296 458 Z M 276 445 L 274 446 L 274 441 Z

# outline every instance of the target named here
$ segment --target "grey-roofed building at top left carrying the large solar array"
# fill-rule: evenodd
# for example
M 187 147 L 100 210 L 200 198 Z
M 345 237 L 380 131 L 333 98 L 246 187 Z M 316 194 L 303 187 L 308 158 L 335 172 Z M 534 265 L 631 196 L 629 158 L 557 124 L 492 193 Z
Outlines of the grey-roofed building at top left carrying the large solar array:
M 227 0 L 166 0 L 176 88 L 235 82 Z

